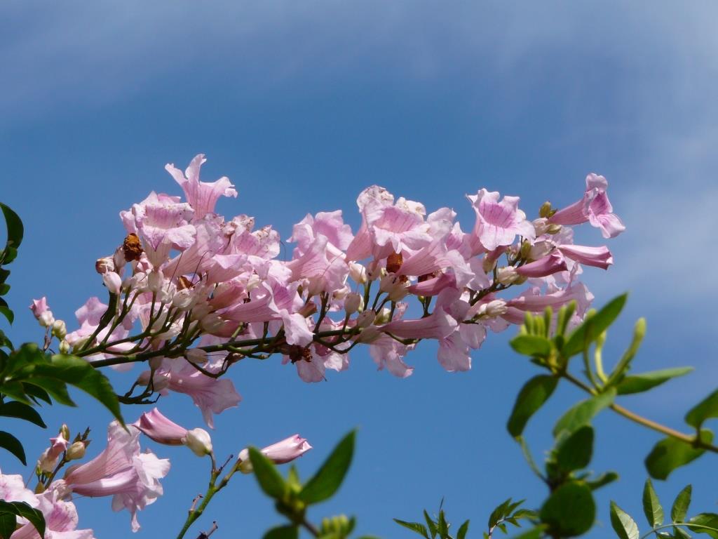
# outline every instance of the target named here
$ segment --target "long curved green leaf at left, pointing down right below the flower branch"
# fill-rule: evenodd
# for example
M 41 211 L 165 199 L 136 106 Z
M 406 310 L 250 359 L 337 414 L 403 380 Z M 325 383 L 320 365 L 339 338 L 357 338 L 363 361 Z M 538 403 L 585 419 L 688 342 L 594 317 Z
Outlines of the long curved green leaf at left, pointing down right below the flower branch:
M 58 379 L 83 390 L 90 397 L 100 401 L 115 418 L 124 425 L 120 403 L 107 377 L 92 365 L 76 356 L 55 354 L 50 357 L 50 364 L 38 364 L 34 367 L 33 377 L 45 376 Z M 32 380 L 28 380 L 32 382 Z M 43 387 L 47 390 L 47 387 Z

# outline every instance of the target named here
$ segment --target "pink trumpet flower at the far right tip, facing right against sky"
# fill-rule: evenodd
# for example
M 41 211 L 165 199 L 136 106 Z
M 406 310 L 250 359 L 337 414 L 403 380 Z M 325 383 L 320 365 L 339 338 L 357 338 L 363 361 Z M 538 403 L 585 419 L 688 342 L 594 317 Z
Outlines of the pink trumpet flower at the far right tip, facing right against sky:
M 593 173 L 587 175 L 583 198 L 554 213 L 548 222 L 572 225 L 589 221 L 592 226 L 601 229 L 603 237 L 615 238 L 626 227 L 620 218 L 612 213 L 613 207 L 606 194 L 607 188 L 608 182 L 603 176 Z

